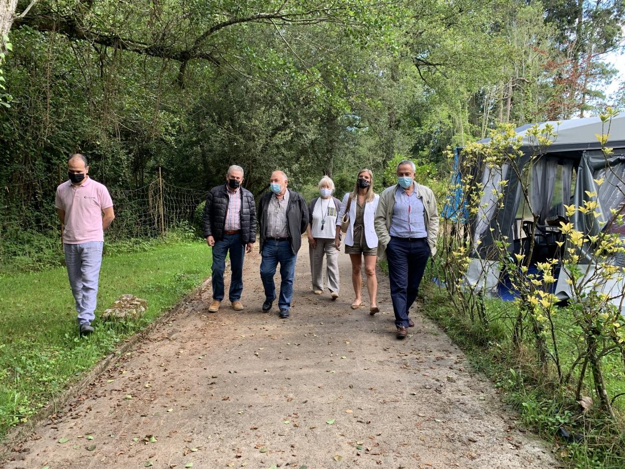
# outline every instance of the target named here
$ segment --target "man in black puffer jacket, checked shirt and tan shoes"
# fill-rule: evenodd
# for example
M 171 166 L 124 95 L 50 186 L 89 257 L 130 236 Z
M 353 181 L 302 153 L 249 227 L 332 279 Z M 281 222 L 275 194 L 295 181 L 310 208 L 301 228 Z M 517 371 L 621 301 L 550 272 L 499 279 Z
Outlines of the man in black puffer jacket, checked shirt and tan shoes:
M 224 299 L 226 255 L 230 252 L 229 300 L 241 311 L 243 291 L 243 258 L 256 241 L 256 204 L 250 191 L 244 189 L 243 168 L 232 165 L 226 184 L 211 189 L 204 206 L 204 238 L 212 247 L 212 303 L 208 310 L 216 313 Z

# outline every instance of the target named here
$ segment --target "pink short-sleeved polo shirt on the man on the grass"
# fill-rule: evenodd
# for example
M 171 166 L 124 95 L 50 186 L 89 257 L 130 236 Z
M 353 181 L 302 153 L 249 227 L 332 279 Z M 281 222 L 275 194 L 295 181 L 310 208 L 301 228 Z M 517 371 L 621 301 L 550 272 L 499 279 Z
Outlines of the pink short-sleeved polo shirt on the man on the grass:
M 56 188 L 56 208 L 65 211 L 63 242 L 79 245 L 89 241 L 104 241 L 102 212 L 113 206 L 104 184 L 87 178 L 80 186 L 65 181 Z

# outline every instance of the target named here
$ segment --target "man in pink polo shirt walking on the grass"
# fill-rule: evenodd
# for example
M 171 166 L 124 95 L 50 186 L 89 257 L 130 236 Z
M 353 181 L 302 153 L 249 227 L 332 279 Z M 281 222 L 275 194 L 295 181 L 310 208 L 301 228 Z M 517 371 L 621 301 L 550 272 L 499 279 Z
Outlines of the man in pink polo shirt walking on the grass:
M 104 230 L 115 218 L 113 200 L 103 184 L 89 178 L 87 158 L 68 160 L 69 181 L 56 188 L 56 211 L 63 225 L 63 250 L 68 267 L 80 335 L 93 332 Z

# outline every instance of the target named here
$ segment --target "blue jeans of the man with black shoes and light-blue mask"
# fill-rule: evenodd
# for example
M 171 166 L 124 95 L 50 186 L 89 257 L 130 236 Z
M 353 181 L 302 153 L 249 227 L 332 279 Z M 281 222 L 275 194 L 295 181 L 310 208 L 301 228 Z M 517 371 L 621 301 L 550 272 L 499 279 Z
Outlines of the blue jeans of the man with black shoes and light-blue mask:
M 289 240 L 266 240 L 264 245 L 262 245 L 261 256 L 261 279 L 262 286 L 265 289 L 266 300 L 274 301 L 276 299 L 276 284 L 273 279 L 279 263 L 282 281 L 280 283 L 280 298 L 277 306 L 281 310 L 289 310 L 293 296 L 295 260 L 297 259 L 297 256 L 291 251 L 291 243 Z

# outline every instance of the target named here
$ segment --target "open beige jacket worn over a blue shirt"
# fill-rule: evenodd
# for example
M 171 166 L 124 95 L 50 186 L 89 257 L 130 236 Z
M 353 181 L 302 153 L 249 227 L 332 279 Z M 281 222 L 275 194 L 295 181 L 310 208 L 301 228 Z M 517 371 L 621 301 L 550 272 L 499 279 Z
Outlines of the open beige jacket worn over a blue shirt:
M 416 183 L 415 183 L 416 184 Z M 377 258 L 379 260 L 386 259 L 386 246 L 391 241 L 391 221 L 392 211 L 395 207 L 395 192 L 399 188 L 399 184 L 395 184 L 384 189 L 380 194 L 380 200 L 377 203 L 376 217 L 373 224 L 377 233 Z M 425 208 L 425 221 L 427 231 L 427 244 L 432 251 L 432 257 L 436 254 L 436 238 L 438 236 L 438 209 L 436 208 L 436 198 L 432 189 L 421 184 L 416 184 L 417 197 L 423 202 Z

